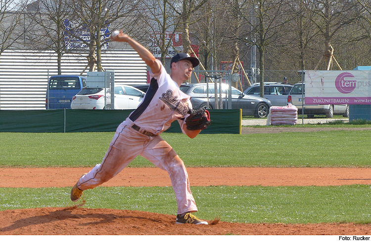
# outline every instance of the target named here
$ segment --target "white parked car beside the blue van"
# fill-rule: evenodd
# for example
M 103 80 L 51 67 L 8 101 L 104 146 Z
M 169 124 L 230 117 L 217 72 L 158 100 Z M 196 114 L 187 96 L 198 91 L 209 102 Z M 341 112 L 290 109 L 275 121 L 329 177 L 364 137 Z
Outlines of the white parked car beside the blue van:
M 114 108 L 109 89 L 87 87 L 77 93 L 71 101 L 71 109 L 136 109 L 145 93 L 130 85 L 115 86 Z

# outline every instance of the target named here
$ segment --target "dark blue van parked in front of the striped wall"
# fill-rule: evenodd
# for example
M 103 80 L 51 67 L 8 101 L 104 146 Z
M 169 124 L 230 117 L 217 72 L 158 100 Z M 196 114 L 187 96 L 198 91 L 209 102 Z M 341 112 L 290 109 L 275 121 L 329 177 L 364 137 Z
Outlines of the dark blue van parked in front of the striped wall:
M 51 76 L 46 89 L 46 110 L 71 109 L 73 96 L 85 87 L 87 87 L 86 77 L 79 75 Z

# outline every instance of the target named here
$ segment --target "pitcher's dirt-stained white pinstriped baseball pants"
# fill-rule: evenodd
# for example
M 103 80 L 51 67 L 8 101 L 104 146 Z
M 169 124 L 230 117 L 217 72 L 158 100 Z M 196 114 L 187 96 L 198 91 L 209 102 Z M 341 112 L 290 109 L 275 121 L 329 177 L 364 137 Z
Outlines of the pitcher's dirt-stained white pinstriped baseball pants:
M 79 189 L 93 189 L 101 185 L 140 155 L 169 173 L 177 198 L 178 214 L 197 211 L 189 188 L 188 174 L 178 154 L 159 135 L 154 137 L 143 135 L 131 128 L 132 125 L 133 123 L 127 119 L 118 126 L 102 163 L 80 178 L 77 185 Z

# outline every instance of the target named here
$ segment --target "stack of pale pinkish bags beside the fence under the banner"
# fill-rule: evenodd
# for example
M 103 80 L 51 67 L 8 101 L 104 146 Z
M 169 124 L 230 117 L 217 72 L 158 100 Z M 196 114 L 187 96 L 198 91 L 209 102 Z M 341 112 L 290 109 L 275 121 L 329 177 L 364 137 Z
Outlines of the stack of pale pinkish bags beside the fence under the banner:
M 272 106 L 267 116 L 267 125 L 296 124 L 298 109 L 292 104 L 287 106 Z

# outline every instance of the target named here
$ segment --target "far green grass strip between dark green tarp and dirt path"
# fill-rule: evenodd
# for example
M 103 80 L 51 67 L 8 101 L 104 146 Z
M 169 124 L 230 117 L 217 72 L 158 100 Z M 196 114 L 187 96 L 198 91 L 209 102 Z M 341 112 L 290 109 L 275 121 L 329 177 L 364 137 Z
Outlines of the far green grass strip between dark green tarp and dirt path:
M 298 128 L 300 129 L 300 128 Z M 0 167 L 94 166 L 113 132 L 0 133 Z M 186 166 L 370 166 L 371 130 L 162 137 Z M 152 166 L 140 156 L 130 166 Z

